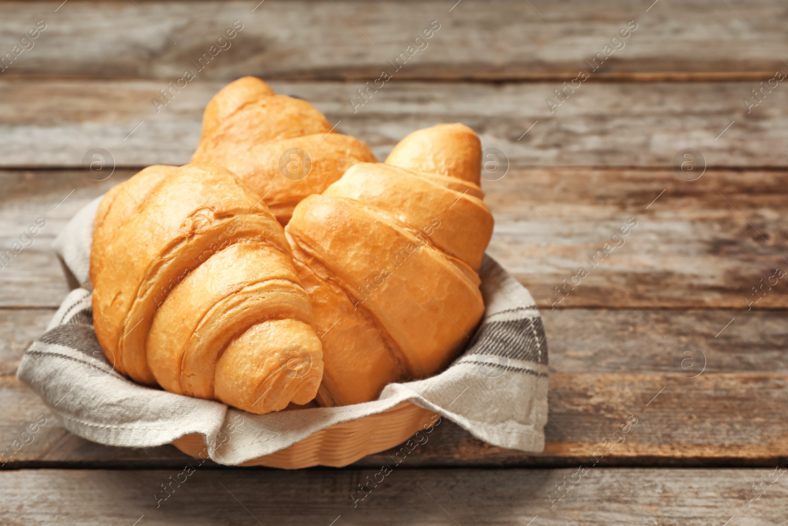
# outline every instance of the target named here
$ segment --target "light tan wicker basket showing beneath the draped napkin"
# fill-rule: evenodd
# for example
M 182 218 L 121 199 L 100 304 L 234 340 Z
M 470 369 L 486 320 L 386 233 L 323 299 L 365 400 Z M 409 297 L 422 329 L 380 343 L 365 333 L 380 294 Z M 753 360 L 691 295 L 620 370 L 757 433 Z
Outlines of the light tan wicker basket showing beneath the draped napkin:
M 292 446 L 264 457 L 252 458 L 242 466 L 299 469 L 310 466 L 341 468 L 373 453 L 388 450 L 433 423 L 437 413 L 403 401 L 374 415 L 335 423 L 314 432 Z M 191 457 L 207 458 L 203 435 L 192 433 L 173 440 Z

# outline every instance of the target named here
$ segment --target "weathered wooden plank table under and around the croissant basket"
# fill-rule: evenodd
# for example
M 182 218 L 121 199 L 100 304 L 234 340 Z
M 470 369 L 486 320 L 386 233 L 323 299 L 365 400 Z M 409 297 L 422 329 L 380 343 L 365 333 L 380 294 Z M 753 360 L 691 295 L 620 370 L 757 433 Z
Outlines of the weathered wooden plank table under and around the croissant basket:
M 46 221 L 0 268 L 0 448 L 46 418 L 2 466 L 2 524 L 786 524 L 788 285 L 771 277 L 788 271 L 788 4 L 452 4 L 0 2 L 0 54 L 46 24 L 0 73 L 2 246 Z M 234 21 L 232 46 L 195 67 Z M 426 47 L 351 103 L 431 21 Z M 184 69 L 195 80 L 157 112 Z M 544 317 L 544 453 L 444 421 L 355 507 L 386 453 L 300 472 L 206 463 L 157 508 L 189 457 L 77 438 L 17 381 L 67 292 L 54 236 L 140 167 L 188 162 L 203 106 L 246 74 L 381 159 L 445 121 L 505 153 L 505 177 L 484 181 L 489 253 Z M 91 173 L 97 147 L 112 160 Z M 595 456 L 633 415 L 626 442 Z

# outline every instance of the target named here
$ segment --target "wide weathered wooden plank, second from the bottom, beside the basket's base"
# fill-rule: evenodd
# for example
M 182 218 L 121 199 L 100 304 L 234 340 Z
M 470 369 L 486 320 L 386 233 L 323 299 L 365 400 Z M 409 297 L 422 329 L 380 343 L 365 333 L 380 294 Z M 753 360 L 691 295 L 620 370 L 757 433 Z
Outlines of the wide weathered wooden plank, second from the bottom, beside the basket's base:
M 13 317 L 0 327 L 0 341 L 18 344 L 3 349 L 2 368 L 13 371 L 28 345 L 15 324 L 43 326 L 49 315 L 40 309 L 4 313 Z M 670 326 L 668 338 L 634 310 L 545 311 L 551 353 L 545 453 L 528 455 L 489 446 L 444 420 L 429 442 L 408 456 L 407 465 L 577 465 L 604 440 L 615 440 L 612 433 L 630 415 L 637 417 L 637 425 L 600 466 L 774 464 L 788 448 L 782 426 L 788 404 L 784 312 L 753 311 L 717 338 L 730 311 L 643 314 Z M 25 330 L 28 338 L 37 336 L 31 328 Z M 0 422 L 4 448 L 37 416 L 49 419 L 35 441 L 4 468 L 177 467 L 185 458 L 171 446 L 113 448 L 71 435 L 39 397 L 13 377 L 0 378 L 0 403 L 6 408 Z M 374 467 L 389 454 L 372 455 L 355 465 Z

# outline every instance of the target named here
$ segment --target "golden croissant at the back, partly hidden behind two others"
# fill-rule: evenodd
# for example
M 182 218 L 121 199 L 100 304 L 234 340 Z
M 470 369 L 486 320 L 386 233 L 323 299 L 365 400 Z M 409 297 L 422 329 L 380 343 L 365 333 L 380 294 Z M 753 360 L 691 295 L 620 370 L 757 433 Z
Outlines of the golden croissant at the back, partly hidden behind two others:
M 377 159 L 360 140 L 333 132 L 310 103 L 274 95 L 262 80 L 244 76 L 206 106 L 191 162 L 231 170 L 284 225 L 300 200 L 323 192 L 356 162 Z

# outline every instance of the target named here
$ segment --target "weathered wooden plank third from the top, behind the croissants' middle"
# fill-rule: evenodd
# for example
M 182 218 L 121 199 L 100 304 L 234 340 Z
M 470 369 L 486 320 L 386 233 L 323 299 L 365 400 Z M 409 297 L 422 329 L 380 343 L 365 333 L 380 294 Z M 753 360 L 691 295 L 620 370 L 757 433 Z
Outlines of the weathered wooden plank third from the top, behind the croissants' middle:
M 46 220 L 32 246 L 0 268 L 0 304 L 57 306 L 67 290 L 50 241 L 80 207 L 132 173 L 94 181 L 80 170 L 0 172 L 7 188 L 0 246 Z M 708 170 L 684 181 L 671 170 L 512 168 L 484 181 L 496 218 L 489 253 L 541 308 L 786 308 L 785 279 L 768 285 L 777 267 L 788 271 L 786 182 L 788 173 L 776 170 Z M 637 226 L 600 256 L 630 218 Z M 579 267 L 589 275 L 580 278 Z M 649 319 L 671 330 L 659 314 Z

